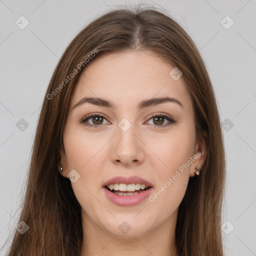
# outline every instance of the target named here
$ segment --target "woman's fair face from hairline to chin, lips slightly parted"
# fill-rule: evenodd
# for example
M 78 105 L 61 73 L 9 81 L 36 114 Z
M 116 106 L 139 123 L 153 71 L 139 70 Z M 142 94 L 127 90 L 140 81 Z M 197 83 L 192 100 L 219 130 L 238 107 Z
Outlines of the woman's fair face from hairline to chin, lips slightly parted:
M 183 77 L 169 75 L 173 68 L 150 51 L 109 53 L 91 62 L 75 85 L 61 174 L 72 174 L 83 221 L 101 231 L 138 237 L 173 225 L 189 176 L 204 162 L 204 141 L 195 141 L 192 100 Z M 84 97 L 104 101 L 80 101 Z M 151 100 L 164 97 L 172 100 Z M 107 182 L 116 176 L 123 179 Z M 149 189 L 142 191 L 146 182 Z M 137 193 L 133 185 L 122 188 L 130 183 Z M 128 187 L 130 195 L 120 191 Z

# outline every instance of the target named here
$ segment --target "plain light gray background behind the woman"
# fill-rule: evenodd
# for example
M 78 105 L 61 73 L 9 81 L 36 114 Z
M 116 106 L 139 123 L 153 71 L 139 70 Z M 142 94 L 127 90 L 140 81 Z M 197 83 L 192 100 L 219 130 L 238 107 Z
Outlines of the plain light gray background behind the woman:
M 225 253 L 256 255 L 256 1 L 144 2 L 168 10 L 202 55 L 223 122 Z M 58 59 L 95 15 L 128 3 L 138 1 L 0 0 L 0 246 L 17 224 L 36 121 Z M 29 21 L 24 29 L 15 23 L 24 24 L 21 15 Z M 234 21 L 228 29 L 227 15 Z

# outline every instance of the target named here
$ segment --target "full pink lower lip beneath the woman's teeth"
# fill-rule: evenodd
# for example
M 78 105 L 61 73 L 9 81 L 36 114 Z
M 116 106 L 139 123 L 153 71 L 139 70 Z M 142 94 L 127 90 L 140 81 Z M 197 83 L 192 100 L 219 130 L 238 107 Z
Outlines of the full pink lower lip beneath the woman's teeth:
M 151 193 L 153 187 L 134 195 L 118 195 L 103 187 L 106 197 L 119 206 L 132 206 L 143 201 Z

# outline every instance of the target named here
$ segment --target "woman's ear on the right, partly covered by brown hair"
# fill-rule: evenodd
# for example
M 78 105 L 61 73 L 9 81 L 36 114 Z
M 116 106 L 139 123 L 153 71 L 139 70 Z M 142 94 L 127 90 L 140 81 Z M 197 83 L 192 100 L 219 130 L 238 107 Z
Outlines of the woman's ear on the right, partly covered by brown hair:
M 203 135 L 200 135 L 197 139 L 195 146 L 194 146 L 194 152 L 193 152 L 193 158 L 195 159 L 192 162 L 191 168 L 190 168 L 190 177 L 193 177 L 195 174 L 195 167 L 198 166 L 201 168 L 204 164 L 204 161 L 207 156 L 207 141 L 205 141 L 205 138 L 207 138 L 207 131 L 202 131 Z

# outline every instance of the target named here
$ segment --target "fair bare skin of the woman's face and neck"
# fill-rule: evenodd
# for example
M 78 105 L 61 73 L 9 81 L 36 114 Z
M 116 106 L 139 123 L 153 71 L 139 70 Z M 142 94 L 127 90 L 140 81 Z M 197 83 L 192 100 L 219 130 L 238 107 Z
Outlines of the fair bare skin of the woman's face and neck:
M 81 256 L 177 255 L 174 230 L 178 206 L 195 167 L 204 163 L 206 146 L 202 138 L 195 141 L 192 100 L 182 76 L 174 80 L 169 75 L 173 67 L 150 51 L 108 53 L 91 62 L 79 76 L 65 123 L 65 152 L 60 150 L 59 167 L 63 167 L 64 177 L 72 169 L 80 175 L 71 184 L 81 205 Z M 183 108 L 165 102 L 137 109 L 143 99 L 166 95 L 178 99 Z M 104 98 L 117 107 L 86 102 L 72 109 L 84 96 Z M 87 123 L 98 127 L 80 122 L 95 112 L 105 116 L 103 122 L 90 118 Z M 162 123 L 150 118 L 152 113 L 170 115 L 176 123 L 167 119 Z M 125 132 L 117 125 L 123 118 L 131 124 Z M 197 151 L 201 153 L 197 159 L 153 202 L 146 198 L 133 206 L 118 206 L 104 195 L 102 184 L 117 175 L 148 180 L 153 195 Z M 123 221 L 131 227 L 126 234 L 118 229 Z

